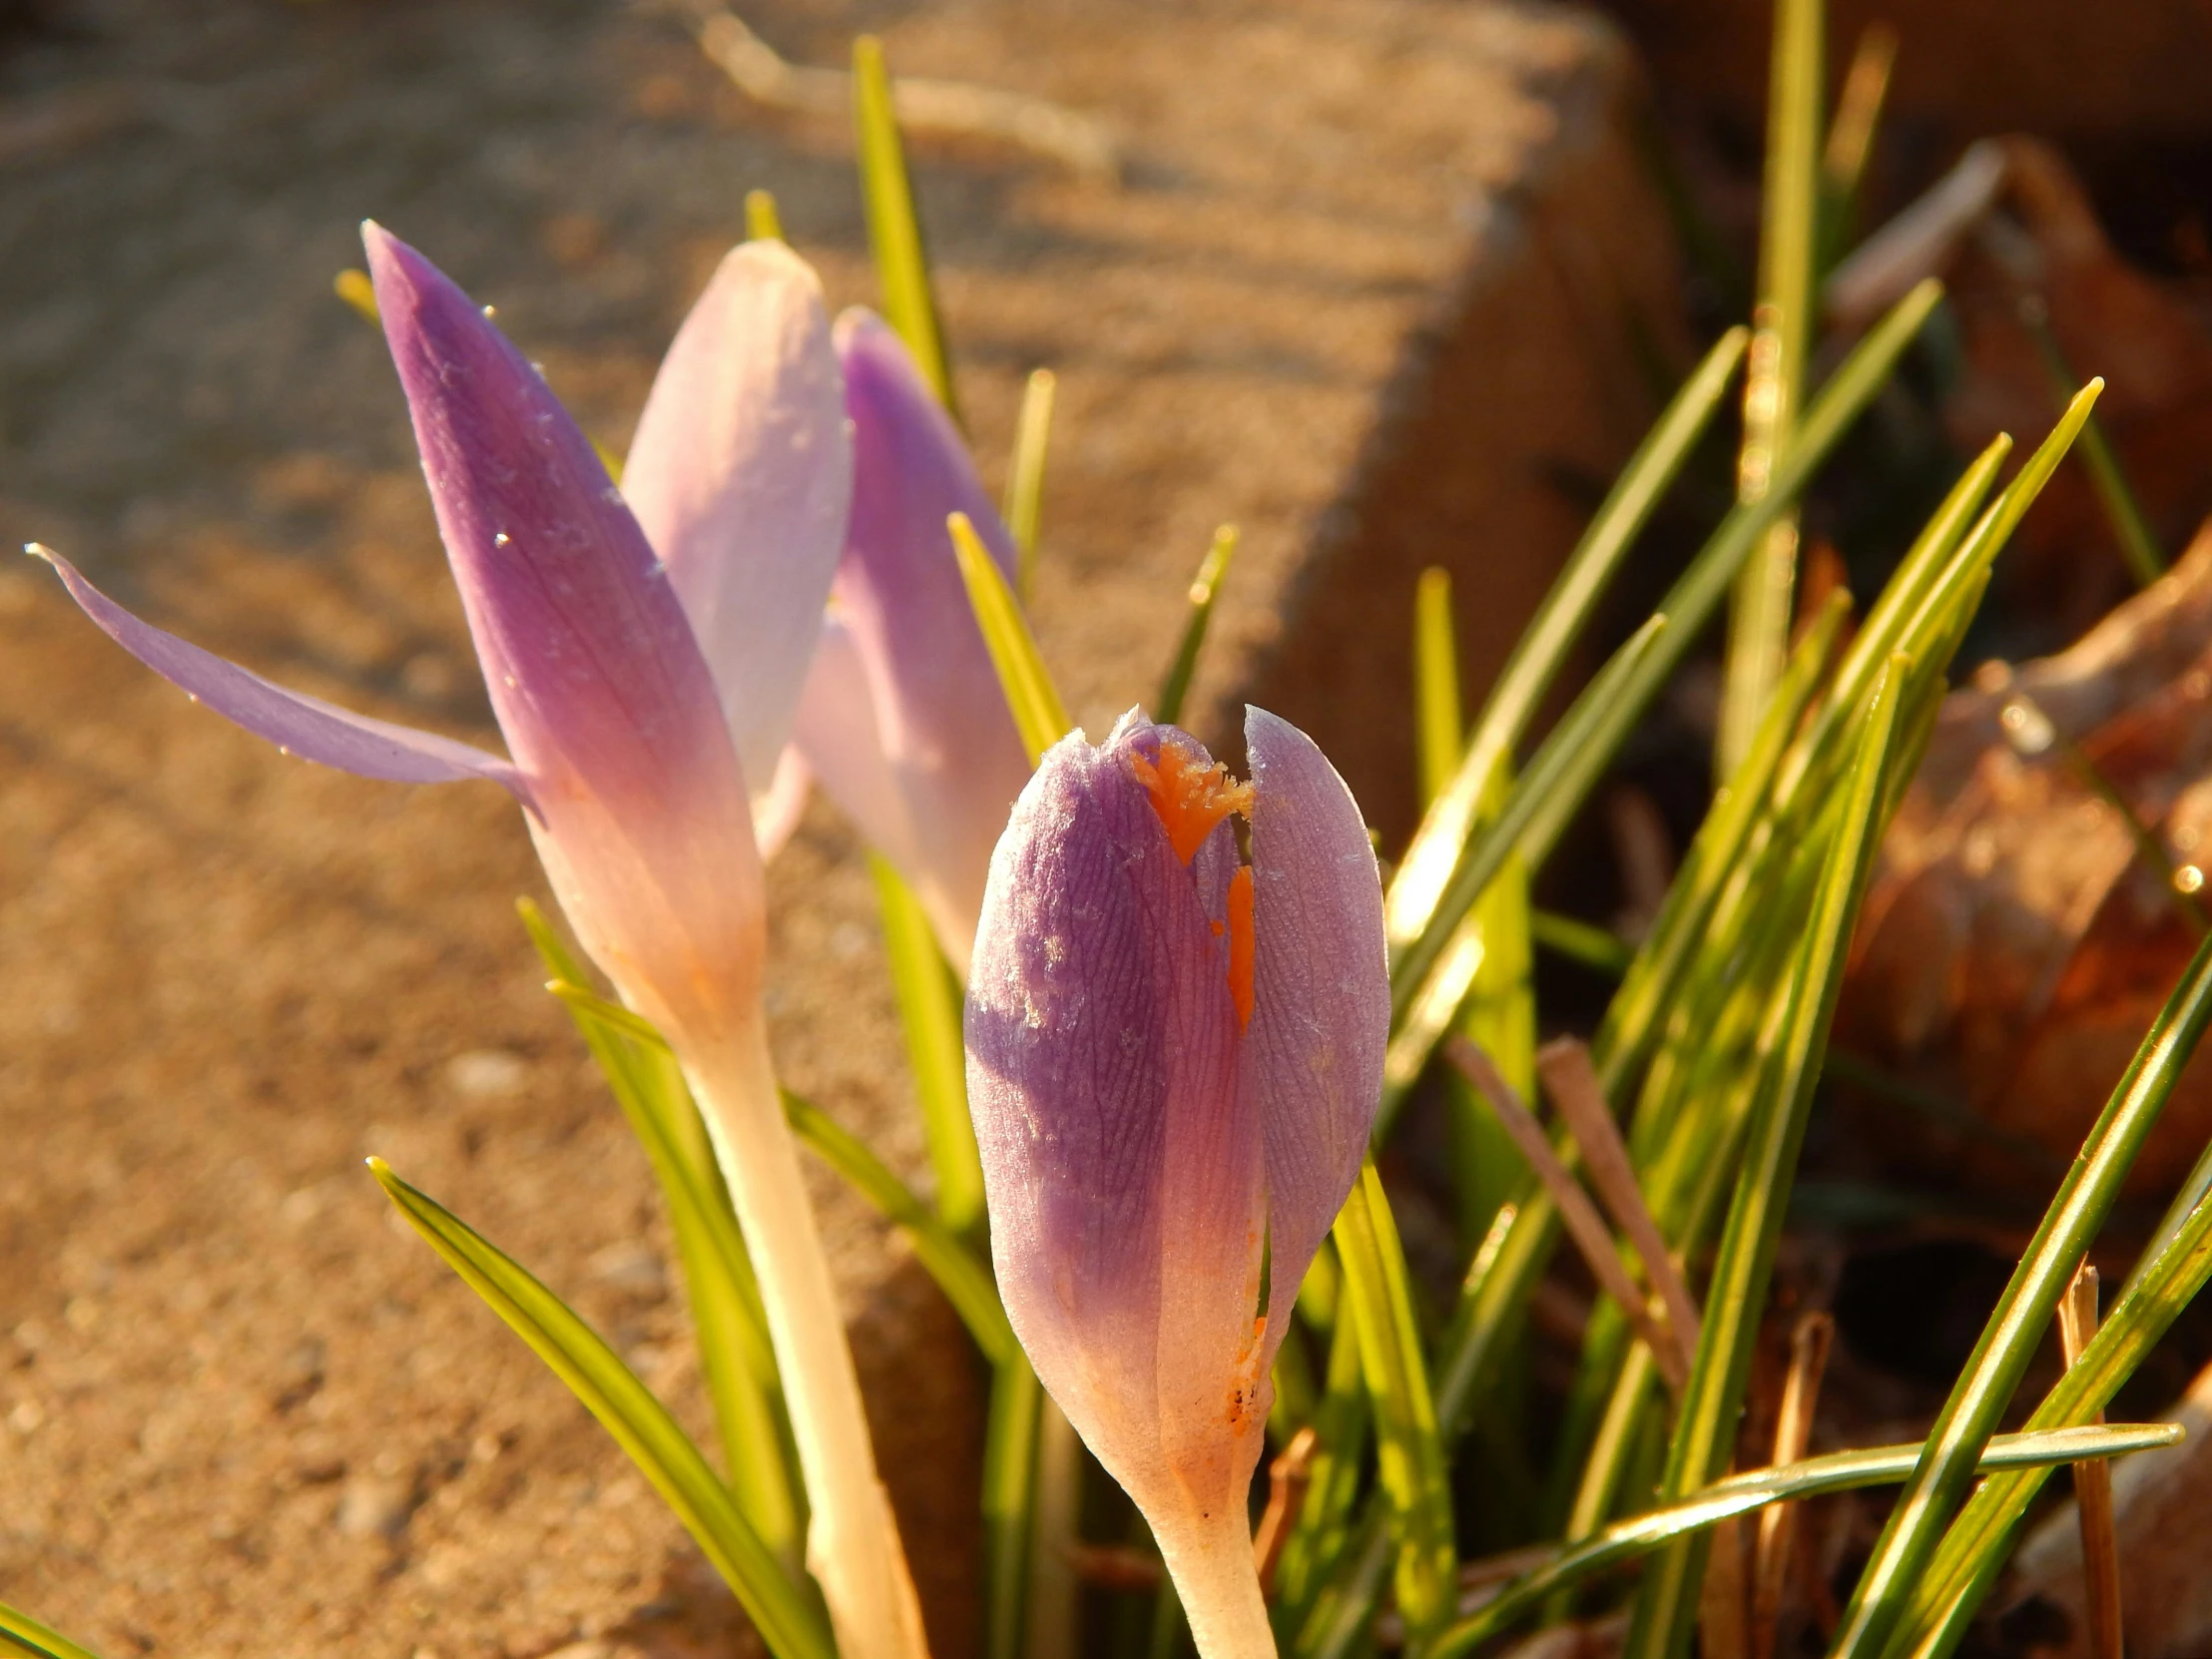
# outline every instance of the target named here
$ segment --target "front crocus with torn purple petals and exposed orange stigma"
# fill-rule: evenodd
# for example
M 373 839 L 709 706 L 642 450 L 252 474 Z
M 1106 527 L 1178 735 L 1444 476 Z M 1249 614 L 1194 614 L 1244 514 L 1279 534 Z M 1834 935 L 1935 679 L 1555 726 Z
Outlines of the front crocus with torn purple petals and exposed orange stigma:
M 1274 714 L 1245 745 L 1250 785 L 1137 714 L 1062 739 L 991 858 L 967 1004 L 1006 1314 L 1206 1659 L 1274 1650 L 1245 1513 L 1267 1371 L 1389 1037 L 1358 807 Z

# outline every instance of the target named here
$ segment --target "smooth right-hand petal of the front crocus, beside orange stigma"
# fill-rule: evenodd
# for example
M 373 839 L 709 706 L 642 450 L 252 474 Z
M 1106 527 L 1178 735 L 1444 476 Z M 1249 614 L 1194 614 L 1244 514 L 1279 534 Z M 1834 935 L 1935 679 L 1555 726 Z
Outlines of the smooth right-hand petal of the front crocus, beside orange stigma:
M 1358 1179 L 1383 1097 L 1383 883 L 1352 790 L 1314 739 L 1245 710 L 1252 759 L 1252 1026 L 1243 1088 L 1267 1139 L 1267 1354 Z

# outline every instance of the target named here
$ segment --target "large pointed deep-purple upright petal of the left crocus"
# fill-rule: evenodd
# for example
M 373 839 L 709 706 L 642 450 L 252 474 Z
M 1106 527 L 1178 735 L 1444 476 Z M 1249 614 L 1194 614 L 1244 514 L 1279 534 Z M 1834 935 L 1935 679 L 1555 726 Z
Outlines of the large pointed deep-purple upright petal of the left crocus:
M 759 989 L 761 865 L 668 573 L 522 354 L 422 254 L 376 226 L 363 241 L 546 874 L 641 1013 L 728 1020 Z

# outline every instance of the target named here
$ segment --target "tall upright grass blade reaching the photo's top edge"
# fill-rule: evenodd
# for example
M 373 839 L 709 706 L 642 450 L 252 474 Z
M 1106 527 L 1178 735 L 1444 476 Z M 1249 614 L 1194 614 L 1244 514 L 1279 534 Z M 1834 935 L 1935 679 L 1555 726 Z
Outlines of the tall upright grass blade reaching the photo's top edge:
M 1820 62 L 1823 0 L 1776 0 L 1774 66 L 1767 84 L 1767 175 L 1759 210 L 1759 303 L 1752 367 L 1743 392 L 1743 451 L 1736 493 L 1761 500 L 1796 436 L 1805 358 L 1814 336 L 1814 268 L 1820 250 Z M 1796 520 L 1778 518 L 1736 580 L 1728 615 L 1728 664 L 1714 770 L 1721 783 L 1759 732 L 1781 679 L 1796 595 Z

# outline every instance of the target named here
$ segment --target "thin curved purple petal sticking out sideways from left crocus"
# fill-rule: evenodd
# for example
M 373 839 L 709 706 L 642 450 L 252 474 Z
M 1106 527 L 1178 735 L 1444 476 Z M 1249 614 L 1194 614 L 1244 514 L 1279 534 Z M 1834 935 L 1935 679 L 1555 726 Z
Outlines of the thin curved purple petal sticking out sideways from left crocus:
M 531 803 L 529 785 L 511 761 L 436 732 L 354 714 L 321 697 L 274 686 L 215 653 L 139 622 L 77 575 L 77 566 L 60 553 L 33 551 L 60 571 L 62 584 L 84 608 L 84 615 L 115 644 L 223 719 L 237 721 L 254 737 L 265 737 L 288 754 L 392 783 L 491 779 L 511 790 L 524 805 Z

